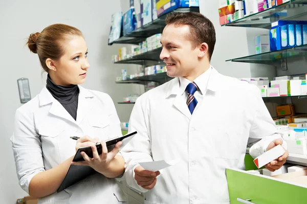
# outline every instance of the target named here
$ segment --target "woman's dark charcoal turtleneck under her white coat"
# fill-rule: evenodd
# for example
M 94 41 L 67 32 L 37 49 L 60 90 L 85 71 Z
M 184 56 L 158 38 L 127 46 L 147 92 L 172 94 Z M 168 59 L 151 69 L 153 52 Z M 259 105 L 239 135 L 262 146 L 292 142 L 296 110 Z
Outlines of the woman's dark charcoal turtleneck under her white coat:
M 50 76 L 47 77 L 47 89 L 51 95 L 69 112 L 69 114 L 76 120 L 78 107 L 78 85 L 61 86 L 55 84 Z

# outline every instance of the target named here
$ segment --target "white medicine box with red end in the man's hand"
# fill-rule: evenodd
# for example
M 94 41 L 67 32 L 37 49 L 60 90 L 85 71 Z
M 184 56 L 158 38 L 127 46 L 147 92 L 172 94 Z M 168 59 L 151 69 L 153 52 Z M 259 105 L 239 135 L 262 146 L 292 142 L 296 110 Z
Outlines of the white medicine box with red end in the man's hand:
M 306 143 L 305 143 L 306 145 Z M 273 160 L 276 160 L 276 158 L 282 156 L 284 153 L 284 149 L 281 145 L 277 145 L 270 149 L 269 151 L 266 151 L 265 153 L 261 154 L 257 158 L 254 159 L 254 163 L 257 166 L 257 168 L 261 168 L 265 166 L 266 164 L 272 162 Z

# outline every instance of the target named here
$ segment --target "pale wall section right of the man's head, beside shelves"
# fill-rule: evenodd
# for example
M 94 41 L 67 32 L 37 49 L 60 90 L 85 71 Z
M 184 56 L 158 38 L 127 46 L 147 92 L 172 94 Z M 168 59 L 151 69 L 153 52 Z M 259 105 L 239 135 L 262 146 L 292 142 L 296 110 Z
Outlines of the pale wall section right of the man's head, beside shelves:
M 219 7 L 218 1 L 200 0 L 200 12 L 212 21 L 216 33 L 211 64 L 221 74 L 236 78 L 250 77 L 250 64 L 226 62 L 228 59 L 248 55 L 247 29 L 221 27 L 218 15 Z

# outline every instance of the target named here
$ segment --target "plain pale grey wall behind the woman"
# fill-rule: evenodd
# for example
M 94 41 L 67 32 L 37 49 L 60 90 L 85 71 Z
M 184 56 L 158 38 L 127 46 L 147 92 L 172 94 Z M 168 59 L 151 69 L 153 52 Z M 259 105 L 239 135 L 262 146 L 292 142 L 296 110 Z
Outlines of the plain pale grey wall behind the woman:
M 120 0 L 75 0 L 75 1 L 2 1 L 0 7 L 0 59 L 1 70 L 1 122 L 0 137 L 2 164 L 0 165 L 1 203 L 15 203 L 26 193 L 18 185 L 13 152 L 9 141 L 13 131 L 15 110 L 19 102 L 16 80 L 29 78 L 32 98 L 45 85 L 36 54 L 25 46 L 30 33 L 40 32 L 48 25 L 63 23 L 80 29 L 89 48 L 91 69 L 83 85 L 111 95 L 115 102 L 133 92 L 133 85 L 115 84 L 115 77 L 125 65 L 113 65 L 111 56 L 118 52 L 119 45 L 107 46 L 111 15 L 120 11 Z M 117 105 L 122 121 L 127 121 L 132 106 Z

